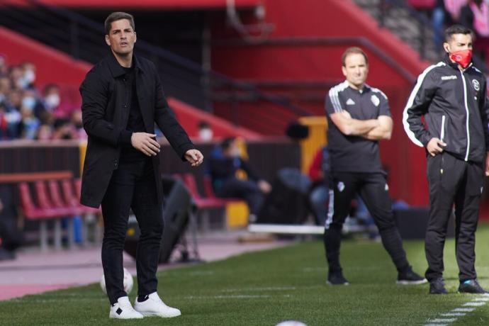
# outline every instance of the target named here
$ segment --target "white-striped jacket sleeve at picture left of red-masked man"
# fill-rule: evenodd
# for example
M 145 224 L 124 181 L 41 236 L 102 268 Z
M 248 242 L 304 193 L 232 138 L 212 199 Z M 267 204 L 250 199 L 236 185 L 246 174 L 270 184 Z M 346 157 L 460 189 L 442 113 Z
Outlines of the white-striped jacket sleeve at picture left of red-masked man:
M 432 67 L 427 68 L 417 78 L 403 113 L 404 130 L 410 140 L 420 147 L 426 147 L 432 138 L 421 120 L 421 117 L 427 113 L 436 91 L 436 84 L 432 80 L 432 74 L 429 73 Z

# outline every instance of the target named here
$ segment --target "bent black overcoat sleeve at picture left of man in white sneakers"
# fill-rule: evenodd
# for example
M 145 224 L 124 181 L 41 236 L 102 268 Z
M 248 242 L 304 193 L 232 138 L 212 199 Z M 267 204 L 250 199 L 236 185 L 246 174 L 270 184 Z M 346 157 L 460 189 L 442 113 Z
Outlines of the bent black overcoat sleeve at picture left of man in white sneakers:
M 109 98 L 108 86 L 103 83 L 96 72 L 90 71 L 81 83 L 80 94 L 81 115 L 86 134 L 116 147 L 121 130 L 105 120 Z

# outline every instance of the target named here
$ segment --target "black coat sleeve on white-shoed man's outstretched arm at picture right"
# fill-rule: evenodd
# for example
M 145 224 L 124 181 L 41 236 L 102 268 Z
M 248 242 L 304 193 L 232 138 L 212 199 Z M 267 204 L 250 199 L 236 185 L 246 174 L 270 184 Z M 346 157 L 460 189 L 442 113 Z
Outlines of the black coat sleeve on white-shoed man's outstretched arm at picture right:
M 185 161 L 185 153 L 188 150 L 194 149 L 195 146 L 184 128 L 176 120 L 174 113 L 170 110 L 167 99 L 164 97 L 162 83 L 159 80 L 156 69 L 154 69 L 154 76 L 156 79 L 154 89 L 154 122 L 158 125 L 159 130 L 162 130 L 164 137 L 167 137 L 168 142 L 172 145 L 176 154 L 181 157 L 182 161 Z

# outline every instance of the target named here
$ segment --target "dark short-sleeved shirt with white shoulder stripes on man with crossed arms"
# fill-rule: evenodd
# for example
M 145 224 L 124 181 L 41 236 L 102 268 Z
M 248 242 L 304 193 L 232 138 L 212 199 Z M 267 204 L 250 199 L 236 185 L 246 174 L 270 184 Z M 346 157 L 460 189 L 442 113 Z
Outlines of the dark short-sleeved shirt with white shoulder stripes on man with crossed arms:
M 390 116 L 386 94 L 368 85 L 361 91 L 352 89 L 347 81 L 330 89 L 326 96 L 328 120 L 327 140 L 331 172 L 385 173 L 382 169 L 378 141 L 344 135 L 332 122 L 330 114 L 348 111 L 358 120 Z

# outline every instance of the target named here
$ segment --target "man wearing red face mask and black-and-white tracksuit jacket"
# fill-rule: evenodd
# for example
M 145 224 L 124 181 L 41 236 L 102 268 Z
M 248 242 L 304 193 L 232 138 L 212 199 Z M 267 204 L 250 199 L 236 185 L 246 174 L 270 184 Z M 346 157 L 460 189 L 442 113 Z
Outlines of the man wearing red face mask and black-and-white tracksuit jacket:
M 458 25 L 445 31 L 447 55 L 420 74 L 403 115 L 406 133 L 427 153 L 425 276 L 433 294 L 447 293 L 442 278 L 443 248 L 454 205 L 459 292 L 488 293 L 479 285 L 474 266 L 483 176 L 489 175 L 489 132 L 486 82 L 471 62 L 472 35 L 470 29 Z

